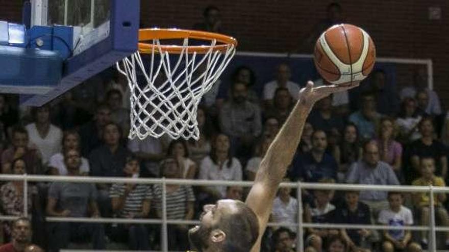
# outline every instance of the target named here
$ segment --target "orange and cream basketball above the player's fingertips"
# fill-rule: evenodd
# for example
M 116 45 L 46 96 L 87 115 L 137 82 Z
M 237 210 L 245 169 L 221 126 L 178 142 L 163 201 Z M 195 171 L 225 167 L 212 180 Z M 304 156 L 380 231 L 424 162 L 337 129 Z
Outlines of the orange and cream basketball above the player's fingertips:
M 337 24 L 316 41 L 313 61 L 318 73 L 333 84 L 360 81 L 374 66 L 376 47 L 360 27 Z

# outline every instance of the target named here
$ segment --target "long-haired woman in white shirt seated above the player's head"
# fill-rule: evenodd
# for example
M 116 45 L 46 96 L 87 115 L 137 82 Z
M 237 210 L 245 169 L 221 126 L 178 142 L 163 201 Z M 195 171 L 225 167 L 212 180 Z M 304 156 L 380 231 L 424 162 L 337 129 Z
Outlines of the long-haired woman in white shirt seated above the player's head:
M 226 134 L 220 133 L 213 138 L 211 154 L 201 162 L 198 179 L 242 180 L 242 165 L 231 155 L 230 141 Z M 226 195 L 226 186 L 204 186 L 202 191 L 199 196 L 201 201 L 216 202 Z

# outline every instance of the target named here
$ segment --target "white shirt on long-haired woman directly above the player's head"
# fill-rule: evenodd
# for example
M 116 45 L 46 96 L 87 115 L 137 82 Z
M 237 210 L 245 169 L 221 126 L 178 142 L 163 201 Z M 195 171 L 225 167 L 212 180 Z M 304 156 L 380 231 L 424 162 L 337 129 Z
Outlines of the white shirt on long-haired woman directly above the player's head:
M 242 165 L 240 164 L 240 161 L 233 157 L 231 167 L 228 167 L 228 161 L 229 160 L 224 161 L 220 169 L 220 167 L 212 161 L 210 156 L 205 157 L 199 167 L 199 179 L 241 181 Z M 212 186 L 212 188 L 221 192 L 222 198 L 226 197 L 226 185 L 216 185 Z

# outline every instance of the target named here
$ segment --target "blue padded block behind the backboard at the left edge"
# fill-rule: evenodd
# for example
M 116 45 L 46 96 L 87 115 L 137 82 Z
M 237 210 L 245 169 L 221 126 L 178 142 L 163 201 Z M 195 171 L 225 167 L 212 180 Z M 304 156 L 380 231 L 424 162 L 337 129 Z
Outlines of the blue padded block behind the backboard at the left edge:
M 58 52 L 0 45 L 0 93 L 48 92 L 61 80 Z

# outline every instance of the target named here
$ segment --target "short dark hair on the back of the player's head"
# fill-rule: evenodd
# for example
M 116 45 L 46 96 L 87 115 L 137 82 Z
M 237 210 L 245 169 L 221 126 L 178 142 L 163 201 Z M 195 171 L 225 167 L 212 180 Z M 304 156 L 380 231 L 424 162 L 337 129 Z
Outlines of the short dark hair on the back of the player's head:
M 248 252 L 259 237 L 259 220 L 254 211 L 241 201 L 235 201 L 237 211 L 221 215 L 216 228 L 226 233 L 224 252 Z

